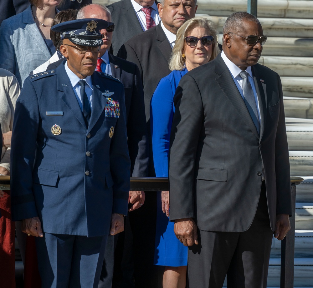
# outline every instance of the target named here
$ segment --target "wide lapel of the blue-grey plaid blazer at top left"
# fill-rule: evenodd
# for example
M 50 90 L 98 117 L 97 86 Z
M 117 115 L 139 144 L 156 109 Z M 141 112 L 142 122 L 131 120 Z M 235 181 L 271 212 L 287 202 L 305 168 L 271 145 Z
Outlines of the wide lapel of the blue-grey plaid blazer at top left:
M 25 25 L 25 31 L 27 31 L 27 33 L 29 34 L 32 42 L 34 42 L 38 46 L 38 48 L 44 53 L 44 55 L 49 59 L 51 57 L 49 49 L 44 42 L 44 39 L 41 36 L 36 23 L 33 20 L 31 6 L 29 6 L 23 14 L 23 23 L 28 24 Z

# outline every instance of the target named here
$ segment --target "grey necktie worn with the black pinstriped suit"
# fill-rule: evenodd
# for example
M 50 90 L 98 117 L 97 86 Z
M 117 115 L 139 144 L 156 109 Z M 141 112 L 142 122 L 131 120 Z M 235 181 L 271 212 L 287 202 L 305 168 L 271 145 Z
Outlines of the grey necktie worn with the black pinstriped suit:
M 244 103 L 246 104 L 248 111 L 250 113 L 250 116 L 254 122 L 254 125 L 256 129 L 258 130 L 258 133 L 260 134 L 260 120 L 259 120 L 259 113 L 258 109 L 256 107 L 256 102 L 254 98 L 254 93 L 251 87 L 251 84 L 249 83 L 248 78 L 248 72 L 241 71 L 240 76 L 242 78 L 242 90 L 244 92 Z

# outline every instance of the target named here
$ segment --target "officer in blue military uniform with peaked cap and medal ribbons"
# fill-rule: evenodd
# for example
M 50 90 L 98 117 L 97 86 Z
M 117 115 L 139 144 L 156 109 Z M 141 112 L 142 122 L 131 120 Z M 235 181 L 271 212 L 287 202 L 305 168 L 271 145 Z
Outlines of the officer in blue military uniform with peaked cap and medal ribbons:
M 96 288 L 107 235 L 124 227 L 130 186 L 124 87 L 94 72 L 107 24 L 53 26 L 66 61 L 27 77 L 16 104 L 12 219 L 36 236 L 43 287 Z

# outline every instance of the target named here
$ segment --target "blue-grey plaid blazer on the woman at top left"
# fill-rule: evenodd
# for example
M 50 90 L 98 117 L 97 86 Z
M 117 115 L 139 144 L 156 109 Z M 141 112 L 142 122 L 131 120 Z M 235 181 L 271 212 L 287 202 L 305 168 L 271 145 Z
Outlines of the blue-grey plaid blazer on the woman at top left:
M 52 56 L 33 20 L 30 6 L 3 20 L 0 51 L 0 68 L 12 72 L 21 87 L 29 73 Z

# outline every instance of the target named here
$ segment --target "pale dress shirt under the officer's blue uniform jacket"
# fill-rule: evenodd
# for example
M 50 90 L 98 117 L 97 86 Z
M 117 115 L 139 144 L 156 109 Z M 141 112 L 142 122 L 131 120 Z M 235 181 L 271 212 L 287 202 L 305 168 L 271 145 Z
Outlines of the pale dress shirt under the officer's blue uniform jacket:
M 85 92 L 86 92 L 87 98 L 89 100 L 90 109 L 91 109 L 92 108 L 92 81 L 91 81 L 91 76 L 87 76 L 84 79 L 80 79 L 77 75 L 75 75 L 74 72 L 72 72 L 69 69 L 69 67 L 67 66 L 67 61 L 64 65 L 64 67 L 65 67 L 65 71 L 66 71 L 67 75 L 69 76 L 69 81 L 72 84 L 72 87 L 73 87 L 73 90 L 74 90 L 74 93 L 75 93 L 75 96 L 76 96 L 76 99 L 77 99 L 77 102 L 80 106 L 81 111 L 83 111 L 83 103 L 81 101 L 80 85 L 78 84 L 78 82 L 80 80 L 84 80 L 88 84 L 88 85 L 85 85 Z

